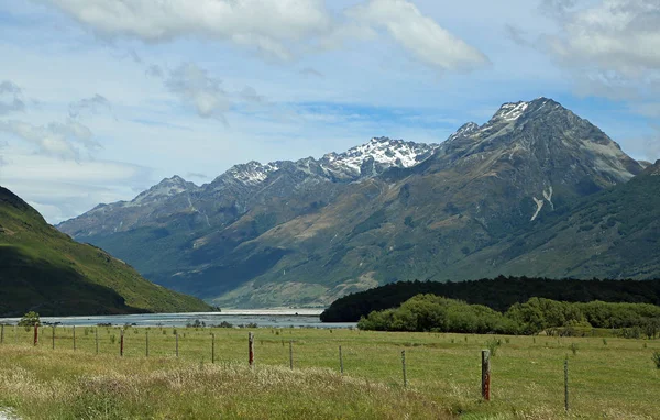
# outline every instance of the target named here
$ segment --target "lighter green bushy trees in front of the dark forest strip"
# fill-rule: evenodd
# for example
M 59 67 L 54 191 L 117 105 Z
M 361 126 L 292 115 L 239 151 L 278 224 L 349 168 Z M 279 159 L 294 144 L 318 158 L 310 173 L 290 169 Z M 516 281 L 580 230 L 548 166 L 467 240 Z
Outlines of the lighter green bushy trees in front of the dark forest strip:
M 483 305 L 436 295 L 418 295 L 396 309 L 373 311 L 358 322 L 361 330 L 458 332 L 474 334 L 537 334 L 553 328 L 636 329 L 656 338 L 660 307 L 603 301 L 562 302 L 531 298 L 499 312 Z

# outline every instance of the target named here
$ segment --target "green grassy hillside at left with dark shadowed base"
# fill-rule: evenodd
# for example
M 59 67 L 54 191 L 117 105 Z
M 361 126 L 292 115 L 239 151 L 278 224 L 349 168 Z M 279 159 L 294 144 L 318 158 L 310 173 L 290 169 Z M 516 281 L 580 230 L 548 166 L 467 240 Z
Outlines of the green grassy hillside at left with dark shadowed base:
M 107 252 L 72 241 L 0 187 L 0 317 L 206 311 Z

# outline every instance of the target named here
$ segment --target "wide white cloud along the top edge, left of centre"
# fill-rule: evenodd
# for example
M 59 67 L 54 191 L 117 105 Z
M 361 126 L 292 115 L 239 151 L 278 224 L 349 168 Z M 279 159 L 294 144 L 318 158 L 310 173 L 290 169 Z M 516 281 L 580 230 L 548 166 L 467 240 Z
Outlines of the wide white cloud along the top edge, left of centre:
M 166 42 L 199 35 L 256 47 L 288 59 L 288 43 L 327 31 L 321 0 L 35 0 L 50 3 L 108 37 Z

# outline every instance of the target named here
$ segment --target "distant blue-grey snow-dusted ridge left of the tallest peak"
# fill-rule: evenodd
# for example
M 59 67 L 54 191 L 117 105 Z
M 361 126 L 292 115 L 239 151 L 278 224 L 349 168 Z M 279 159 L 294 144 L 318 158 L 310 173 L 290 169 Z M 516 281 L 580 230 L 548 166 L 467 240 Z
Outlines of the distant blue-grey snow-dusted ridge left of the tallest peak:
M 417 165 L 437 147 L 436 144 L 374 137 L 363 145 L 343 153 L 329 153 L 319 159 L 306 157 L 267 164 L 252 161 L 234 165 L 200 187 L 175 175 L 131 201 L 99 205 L 58 228 L 74 236 L 90 236 L 157 224 L 164 217 L 179 213 L 197 214 L 201 223 L 209 226 L 213 214 L 224 223 L 249 211 L 256 202 L 293 194 L 302 185 L 352 183 L 377 176 L 391 167 Z M 270 188 L 264 189 L 265 186 Z

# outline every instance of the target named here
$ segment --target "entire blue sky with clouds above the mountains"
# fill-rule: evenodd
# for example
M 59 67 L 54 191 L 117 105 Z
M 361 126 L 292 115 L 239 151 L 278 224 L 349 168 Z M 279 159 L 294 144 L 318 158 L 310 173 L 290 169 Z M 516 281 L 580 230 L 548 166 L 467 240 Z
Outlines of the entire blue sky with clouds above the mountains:
M 538 97 L 654 161 L 659 93 L 657 0 L 0 0 L 0 185 L 51 223 Z

